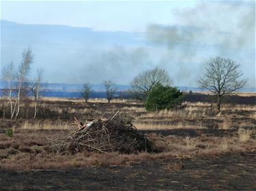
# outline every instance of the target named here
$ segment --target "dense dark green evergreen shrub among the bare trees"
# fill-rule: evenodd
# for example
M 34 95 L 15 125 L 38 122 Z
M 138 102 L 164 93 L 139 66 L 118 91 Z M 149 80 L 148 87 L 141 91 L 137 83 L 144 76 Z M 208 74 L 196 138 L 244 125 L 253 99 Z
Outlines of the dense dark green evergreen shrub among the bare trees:
M 180 105 L 183 99 L 184 95 L 179 89 L 157 84 L 148 93 L 145 101 L 145 108 L 148 111 L 171 109 L 176 105 Z

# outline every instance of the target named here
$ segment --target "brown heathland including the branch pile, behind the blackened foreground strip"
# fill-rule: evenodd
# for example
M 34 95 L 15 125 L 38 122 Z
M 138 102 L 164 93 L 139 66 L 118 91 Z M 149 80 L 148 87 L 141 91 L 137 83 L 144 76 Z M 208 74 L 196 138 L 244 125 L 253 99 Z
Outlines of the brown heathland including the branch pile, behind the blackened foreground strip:
M 184 109 L 148 112 L 142 103 L 134 100 L 113 100 L 111 104 L 104 101 L 89 99 L 85 104 L 78 99 L 43 100 L 41 107 L 44 109 L 38 110 L 38 119 L 1 120 L 0 168 L 22 170 L 130 165 L 160 158 L 190 160 L 256 152 L 254 105 L 223 104 L 223 111 L 217 113 L 210 103 L 187 103 Z M 119 114 L 111 120 L 118 110 L 121 116 L 130 116 L 129 120 L 119 118 Z M 102 121 L 102 115 L 106 121 Z M 76 125 L 72 124 L 74 116 L 79 119 Z M 88 119 L 96 119 L 94 128 L 82 128 L 89 123 Z M 5 134 L 8 129 L 12 130 L 12 137 Z M 145 152 L 145 139 L 137 137 L 137 133 L 143 133 L 148 139 L 146 142 L 152 143 L 152 152 Z M 144 145 L 139 143 L 139 150 L 137 143 L 130 149 L 133 142 L 129 140 L 134 138 L 130 135 L 138 141 L 144 140 L 141 141 Z M 108 137 L 113 142 L 109 142 Z M 53 143 L 56 144 L 54 149 L 51 147 Z M 123 144 L 125 149 L 122 149 Z M 180 167 L 177 162 L 169 164 L 167 169 L 179 171 Z

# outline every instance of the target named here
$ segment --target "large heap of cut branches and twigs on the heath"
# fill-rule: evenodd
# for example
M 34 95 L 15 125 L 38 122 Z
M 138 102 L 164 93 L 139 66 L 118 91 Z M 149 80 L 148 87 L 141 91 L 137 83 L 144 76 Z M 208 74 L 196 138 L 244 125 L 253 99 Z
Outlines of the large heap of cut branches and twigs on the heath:
M 78 122 L 77 130 L 66 137 L 52 141 L 51 147 L 56 152 L 120 152 L 122 154 L 150 152 L 152 143 L 141 135 L 128 120 L 115 118 L 98 118 L 86 122 Z

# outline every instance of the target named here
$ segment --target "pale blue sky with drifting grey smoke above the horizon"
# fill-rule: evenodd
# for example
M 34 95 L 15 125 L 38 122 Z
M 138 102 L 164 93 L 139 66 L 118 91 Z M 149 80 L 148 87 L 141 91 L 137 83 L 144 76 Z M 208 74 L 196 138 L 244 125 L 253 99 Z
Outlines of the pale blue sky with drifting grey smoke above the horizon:
M 173 85 L 197 86 L 207 61 L 223 56 L 240 63 L 248 87 L 255 87 L 255 1 L 1 1 L 1 20 L 23 24 L 15 28 L 22 42 L 2 24 L 1 66 L 18 65 L 30 46 L 32 73 L 44 67 L 46 82 L 129 84 L 161 67 Z M 53 31 L 53 24 L 65 35 L 38 31 Z

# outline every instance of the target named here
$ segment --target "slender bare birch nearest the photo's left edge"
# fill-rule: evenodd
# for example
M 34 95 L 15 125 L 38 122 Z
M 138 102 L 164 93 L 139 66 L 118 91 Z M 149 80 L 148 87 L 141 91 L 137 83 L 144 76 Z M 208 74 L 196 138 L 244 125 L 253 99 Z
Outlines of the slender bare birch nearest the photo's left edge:
M 3 94 L 8 99 L 8 103 L 10 103 L 10 111 L 11 111 L 11 118 L 14 115 L 14 104 L 12 103 L 12 91 L 14 89 L 14 63 L 10 63 L 3 67 L 1 71 L 1 80 L 7 83 L 7 87 L 3 90 Z

